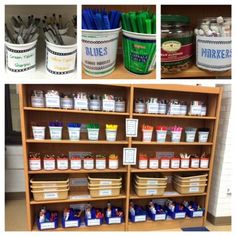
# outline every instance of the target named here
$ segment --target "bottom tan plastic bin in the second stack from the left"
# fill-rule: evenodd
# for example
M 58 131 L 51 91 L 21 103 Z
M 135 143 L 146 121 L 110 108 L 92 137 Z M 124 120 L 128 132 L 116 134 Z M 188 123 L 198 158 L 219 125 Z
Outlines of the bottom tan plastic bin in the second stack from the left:
M 115 197 L 120 195 L 121 184 L 119 186 L 88 187 L 91 197 Z

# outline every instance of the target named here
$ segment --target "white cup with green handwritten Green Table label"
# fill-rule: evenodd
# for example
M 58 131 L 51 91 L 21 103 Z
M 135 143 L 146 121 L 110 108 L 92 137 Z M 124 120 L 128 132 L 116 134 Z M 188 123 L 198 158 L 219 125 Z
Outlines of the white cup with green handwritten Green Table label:
M 26 44 L 5 42 L 7 72 L 18 75 L 34 72 L 36 68 L 36 43 L 37 40 Z

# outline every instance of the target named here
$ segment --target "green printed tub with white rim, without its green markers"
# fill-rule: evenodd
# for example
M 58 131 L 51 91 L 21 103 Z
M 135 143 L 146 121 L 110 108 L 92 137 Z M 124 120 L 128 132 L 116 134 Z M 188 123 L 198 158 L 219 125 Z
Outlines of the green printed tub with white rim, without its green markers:
M 122 32 L 125 68 L 135 74 L 151 73 L 156 66 L 156 34 Z

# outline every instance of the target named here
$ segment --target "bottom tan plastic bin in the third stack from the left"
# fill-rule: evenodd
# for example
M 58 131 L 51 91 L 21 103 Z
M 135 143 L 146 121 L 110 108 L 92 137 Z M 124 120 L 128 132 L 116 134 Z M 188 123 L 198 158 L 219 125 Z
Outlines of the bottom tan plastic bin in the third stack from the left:
M 159 196 L 163 195 L 166 189 L 166 185 L 163 186 L 146 186 L 146 187 L 139 187 L 134 185 L 135 192 L 138 196 Z

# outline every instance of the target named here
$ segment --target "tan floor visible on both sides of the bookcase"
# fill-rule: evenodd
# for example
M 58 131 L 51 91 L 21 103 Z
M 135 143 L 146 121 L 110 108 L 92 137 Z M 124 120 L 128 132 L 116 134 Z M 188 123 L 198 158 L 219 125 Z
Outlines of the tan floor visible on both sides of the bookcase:
M 7 200 L 5 204 L 5 230 L 6 231 L 25 231 L 27 230 L 25 211 L 25 200 Z M 19 219 L 19 220 L 12 220 Z M 215 226 L 207 222 L 206 227 L 210 231 L 231 231 L 230 225 Z M 181 231 L 172 229 L 171 231 Z

